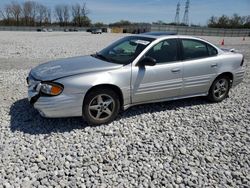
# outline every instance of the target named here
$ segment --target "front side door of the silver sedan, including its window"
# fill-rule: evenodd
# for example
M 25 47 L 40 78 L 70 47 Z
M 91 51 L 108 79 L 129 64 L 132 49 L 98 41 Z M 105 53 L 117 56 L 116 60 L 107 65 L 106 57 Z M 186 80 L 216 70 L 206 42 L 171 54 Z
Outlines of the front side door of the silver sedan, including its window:
M 161 41 L 145 56 L 154 58 L 156 65 L 132 67 L 132 103 L 179 97 L 183 66 L 179 61 L 177 40 Z

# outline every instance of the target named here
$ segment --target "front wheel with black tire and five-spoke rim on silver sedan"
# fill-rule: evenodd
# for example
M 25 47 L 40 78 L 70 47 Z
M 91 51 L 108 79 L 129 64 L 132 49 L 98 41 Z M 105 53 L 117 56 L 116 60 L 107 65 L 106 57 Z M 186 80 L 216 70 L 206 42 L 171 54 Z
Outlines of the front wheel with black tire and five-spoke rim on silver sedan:
M 83 118 L 89 125 L 108 124 L 116 118 L 119 110 L 119 96 L 112 89 L 96 88 L 83 102 Z

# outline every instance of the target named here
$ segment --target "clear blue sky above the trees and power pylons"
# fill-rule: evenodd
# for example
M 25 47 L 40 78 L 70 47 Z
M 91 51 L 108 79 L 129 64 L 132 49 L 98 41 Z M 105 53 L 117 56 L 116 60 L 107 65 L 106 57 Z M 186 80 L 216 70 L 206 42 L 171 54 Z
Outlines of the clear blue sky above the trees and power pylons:
M 14 0 L 24 2 L 25 0 Z M 93 23 L 112 23 L 119 20 L 132 22 L 173 22 L 176 5 L 181 4 L 180 20 L 183 18 L 186 0 L 33 0 L 48 7 L 56 4 L 74 4 L 86 2 Z M 0 0 L 0 8 L 11 0 Z M 231 16 L 250 15 L 250 0 L 190 0 L 190 24 L 206 25 L 211 16 L 222 14 Z

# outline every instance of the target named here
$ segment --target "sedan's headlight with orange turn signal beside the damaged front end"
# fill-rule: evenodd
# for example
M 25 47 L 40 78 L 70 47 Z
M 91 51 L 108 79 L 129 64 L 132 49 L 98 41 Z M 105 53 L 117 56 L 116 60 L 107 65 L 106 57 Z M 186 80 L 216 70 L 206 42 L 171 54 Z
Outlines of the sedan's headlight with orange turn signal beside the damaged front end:
M 63 91 L 63 86 L 57 83 L 41 83 L 40 92 L 45 95 L 57 96 Z

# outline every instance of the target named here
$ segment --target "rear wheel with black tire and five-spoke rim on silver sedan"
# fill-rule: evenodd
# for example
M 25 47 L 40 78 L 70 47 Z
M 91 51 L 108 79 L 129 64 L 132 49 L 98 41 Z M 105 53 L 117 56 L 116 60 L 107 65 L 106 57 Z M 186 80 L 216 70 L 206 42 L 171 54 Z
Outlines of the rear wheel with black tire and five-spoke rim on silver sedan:
M 230 79 L 226 76 L 216 78 L 209 89 L 208 99 L 211 102 L 221 102 L 227 98 L 230 89 Z

